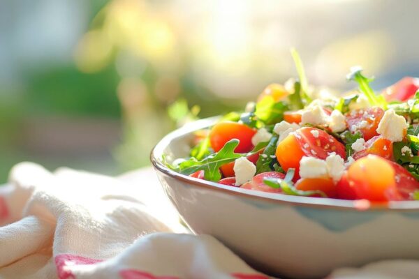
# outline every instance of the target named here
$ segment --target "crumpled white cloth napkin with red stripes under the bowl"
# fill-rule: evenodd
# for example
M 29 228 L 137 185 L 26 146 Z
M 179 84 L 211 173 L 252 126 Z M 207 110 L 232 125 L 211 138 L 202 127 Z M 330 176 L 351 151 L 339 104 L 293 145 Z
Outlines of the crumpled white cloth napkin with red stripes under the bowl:
M 113 179 L 21 163 L 0 188 L 0 278 L 269 278 L 178 220 L 150 169 Z M 418 262 L 392 261 L 328 278 L 418 273 Z

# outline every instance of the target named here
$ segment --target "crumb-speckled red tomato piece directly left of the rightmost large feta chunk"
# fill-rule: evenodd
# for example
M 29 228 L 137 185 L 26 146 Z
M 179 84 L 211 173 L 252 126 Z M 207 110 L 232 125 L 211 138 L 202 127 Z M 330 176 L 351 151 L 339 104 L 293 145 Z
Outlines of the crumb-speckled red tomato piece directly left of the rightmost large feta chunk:
M 346 115 L 346 122 L 351 133 L 358 130 L 362 133 L 364 140 L 369 140 L 378 135 L 377 128 L 384 115 L 381 107 L 369 107 L 365 110 L 353 110 Z

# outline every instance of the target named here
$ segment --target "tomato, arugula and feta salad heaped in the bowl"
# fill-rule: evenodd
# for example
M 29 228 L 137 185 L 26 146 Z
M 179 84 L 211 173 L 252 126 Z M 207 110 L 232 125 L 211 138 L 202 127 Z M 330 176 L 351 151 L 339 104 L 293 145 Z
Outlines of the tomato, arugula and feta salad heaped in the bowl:
M 181 174 L 251 190 L 309 197 L 419 199 L 419 79 L 381 92 L 353 67 L 358 88 L 334 95 L 298 80 L 270 84 L 244 112 L 195 133 Z

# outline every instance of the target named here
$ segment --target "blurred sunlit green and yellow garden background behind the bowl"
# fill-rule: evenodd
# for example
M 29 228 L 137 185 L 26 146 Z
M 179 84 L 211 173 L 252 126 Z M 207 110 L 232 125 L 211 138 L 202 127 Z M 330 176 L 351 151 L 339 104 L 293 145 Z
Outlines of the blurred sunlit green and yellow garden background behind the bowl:
M 185 117 L 296 76 L 419 75 L 418 1 L 0 0 L 0 182 L 33 160 L 119 174 Z M 187 107 L 192 110 L 188 113 Z

